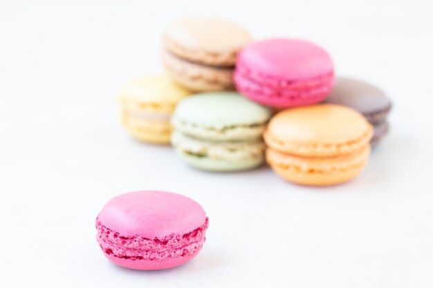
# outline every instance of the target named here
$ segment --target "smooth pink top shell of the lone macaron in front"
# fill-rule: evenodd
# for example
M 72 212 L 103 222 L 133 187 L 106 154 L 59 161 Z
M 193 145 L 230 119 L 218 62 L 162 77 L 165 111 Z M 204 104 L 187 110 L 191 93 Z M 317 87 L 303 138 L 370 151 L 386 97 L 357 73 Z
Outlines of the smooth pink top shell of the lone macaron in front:
M 154 240 L 194 231 L 205 223 L 206 213 L 200 204 L 183 195 L 136 191 L 111 199 L 98 220 L 121 236 Z

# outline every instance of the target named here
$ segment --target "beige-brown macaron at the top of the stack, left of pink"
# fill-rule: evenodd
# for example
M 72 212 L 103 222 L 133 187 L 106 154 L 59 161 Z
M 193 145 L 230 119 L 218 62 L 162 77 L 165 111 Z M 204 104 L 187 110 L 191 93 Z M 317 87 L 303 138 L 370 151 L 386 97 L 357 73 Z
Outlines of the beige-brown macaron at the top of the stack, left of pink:
M 163 64 L 174 81 L 187 89 L 230 90 L 237 52 L 250 41 L 250 34 L 230 21 L 178 19 L 164 33 Z

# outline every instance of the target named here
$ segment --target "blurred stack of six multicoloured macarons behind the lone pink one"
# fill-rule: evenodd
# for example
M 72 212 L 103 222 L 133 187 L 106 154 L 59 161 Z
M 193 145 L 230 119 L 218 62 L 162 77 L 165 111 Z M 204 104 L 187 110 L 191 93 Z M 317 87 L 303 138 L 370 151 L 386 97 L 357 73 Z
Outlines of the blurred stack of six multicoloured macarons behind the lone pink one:
M 335 79 L 331 56 L 310 41 L 253 41 L 230 21 L 189 17 L 167 27 L 161 58 L 166 75 L 125 84 L 122 122 L 138 140 L 171 143 L 197 169 L 266 160 L 289 182 L 338 184 L 362 171 L 388 131 L 385 93 Z

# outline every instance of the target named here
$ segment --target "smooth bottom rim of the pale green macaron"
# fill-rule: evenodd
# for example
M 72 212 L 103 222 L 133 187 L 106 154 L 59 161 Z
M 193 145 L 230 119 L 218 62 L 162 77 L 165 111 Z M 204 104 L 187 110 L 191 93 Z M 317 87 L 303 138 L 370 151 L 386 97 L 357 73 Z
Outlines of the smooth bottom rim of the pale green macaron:
M 243 160 L 222 160 L 210 157 L 199 157 L 190 155 L 184 151 L 176 150 L 176 153 L 190 166 L 203 171 L 210 172 L 236 172 L 254 169 L 265 162 L 264 156 L 257 156 Z

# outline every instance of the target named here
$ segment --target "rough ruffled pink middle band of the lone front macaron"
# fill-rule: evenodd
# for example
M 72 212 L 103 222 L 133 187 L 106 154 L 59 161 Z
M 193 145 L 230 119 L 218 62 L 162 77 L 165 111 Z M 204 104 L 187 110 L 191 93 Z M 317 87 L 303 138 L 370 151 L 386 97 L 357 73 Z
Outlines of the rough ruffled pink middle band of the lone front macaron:
M 104 226 L 96 219 L 96 236 L 102 251 L 108 256 L 128 260 L 168 260 L 190 256 L 200 251 L 205 242 L 205 231 L 209 220 L 198 228 L 183 235 L 172 234 L 162 239 L 144 238 L 142 236 L 125 236 Z

